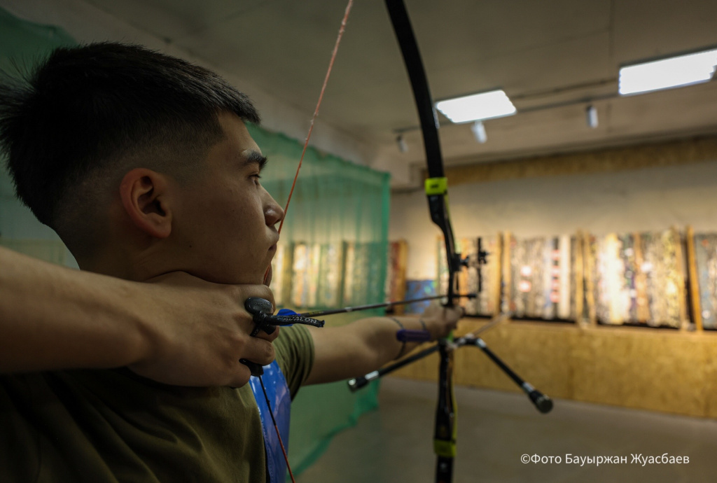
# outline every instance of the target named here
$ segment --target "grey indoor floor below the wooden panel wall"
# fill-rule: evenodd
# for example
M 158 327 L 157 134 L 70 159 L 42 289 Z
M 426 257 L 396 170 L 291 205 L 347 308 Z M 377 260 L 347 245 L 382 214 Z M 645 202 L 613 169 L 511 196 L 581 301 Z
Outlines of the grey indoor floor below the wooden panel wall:
M 455 483 L 717 481 L 717 421 L 566 400 L 543 415 L 518 393 L 455 389 Z M 433 482 L 436 393 L 435 383 L 385 378 L 379 410 L 336 436 L 297 482 Z M 632 463 L 632 454 L 665 453 L 689 463 Z M 523 454 L 562 462 L 523 464 Z M 626 456 L 627 463 L 581 467 L 566 464 L 566 454 Z

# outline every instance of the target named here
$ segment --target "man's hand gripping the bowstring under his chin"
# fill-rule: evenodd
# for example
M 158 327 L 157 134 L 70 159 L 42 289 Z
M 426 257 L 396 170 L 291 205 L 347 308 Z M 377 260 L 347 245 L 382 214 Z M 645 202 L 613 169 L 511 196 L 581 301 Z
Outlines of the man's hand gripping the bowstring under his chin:
M 274 305 L 271 275 L 256 285 L 215 284 L 185 272 L 151 279 L 146 301 L 137 301 L 147 305 L 139 321 L 144 356 L 129 368 L 176 386 L 243 386 L 250 370 L 239 359 L 266 365 L 275 358 L 280 330 L 250 337 L 255 324 L 244 309 L 249 297 Z

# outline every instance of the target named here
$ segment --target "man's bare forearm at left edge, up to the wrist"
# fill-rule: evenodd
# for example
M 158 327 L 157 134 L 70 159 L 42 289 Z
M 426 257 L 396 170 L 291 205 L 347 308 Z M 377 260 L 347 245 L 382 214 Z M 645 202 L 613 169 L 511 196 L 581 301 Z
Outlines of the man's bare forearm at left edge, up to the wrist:
M 0 372 L 109 368 L 146 352 L 132 282 L 0 248 Z M 133 307 L 128 310 L 128 307 Z

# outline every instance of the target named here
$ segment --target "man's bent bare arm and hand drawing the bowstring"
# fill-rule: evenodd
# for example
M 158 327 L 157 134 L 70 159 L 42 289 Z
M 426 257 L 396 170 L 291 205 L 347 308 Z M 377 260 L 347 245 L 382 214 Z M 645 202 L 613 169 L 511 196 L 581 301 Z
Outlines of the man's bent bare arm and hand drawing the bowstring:
M 239 358 L 270 363 L 277 333 L 250 338 L 247 297 L 263 285 L 204 282 L 176 272 L 128 282 L 0 248 L 0 373 L 128 365 L 183 386 L 242 386 Z

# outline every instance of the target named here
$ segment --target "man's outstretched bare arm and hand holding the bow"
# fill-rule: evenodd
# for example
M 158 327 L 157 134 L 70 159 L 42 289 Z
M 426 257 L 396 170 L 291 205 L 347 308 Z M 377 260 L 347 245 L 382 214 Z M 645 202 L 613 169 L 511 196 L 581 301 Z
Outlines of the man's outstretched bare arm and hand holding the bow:
M 404 348 L 404 343 L 397 340 L 401 327 L 422 330 L 422 320 L 431 333 L 431 340 L 436 340 L 455 328 L 462 313 L 460 307 L 431 305 L 421 317 L 369 317 L 343 327 L 310 327 L 315 357 L 306 384 L 363 376 L 417 347 L 417 343 L 406 343 Z

